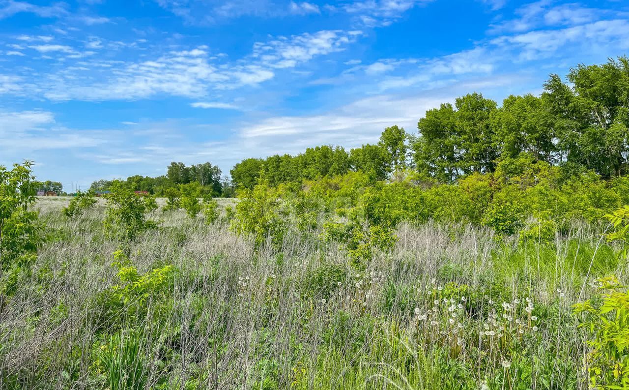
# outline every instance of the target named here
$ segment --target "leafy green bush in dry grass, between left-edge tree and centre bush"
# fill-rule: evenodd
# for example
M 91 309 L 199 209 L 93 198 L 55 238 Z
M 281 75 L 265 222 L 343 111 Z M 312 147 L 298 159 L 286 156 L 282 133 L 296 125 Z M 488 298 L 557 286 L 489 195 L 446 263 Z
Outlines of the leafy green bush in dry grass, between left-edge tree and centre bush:
M 108 234 L 118 240 L 130 242 L 143 231 L 155 228 L 157 223 L 148 220 L 147 214 L 157 209 L 152 196 L 139 196 L 123 182 L 114 182 L 107 194 L 107 211 L 103 225 Z

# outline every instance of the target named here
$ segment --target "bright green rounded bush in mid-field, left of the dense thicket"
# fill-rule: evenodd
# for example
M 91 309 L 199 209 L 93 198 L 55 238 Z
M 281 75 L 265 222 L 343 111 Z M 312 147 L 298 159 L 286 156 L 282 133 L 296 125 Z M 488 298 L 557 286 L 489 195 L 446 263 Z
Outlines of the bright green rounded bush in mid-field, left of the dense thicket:
M 260 247 L 267 237 L 278 247 L 286 231 L 281 201 L 264 184 L 240 192 L 231 220 L 231 230 L 253 237 L 256 247 Z

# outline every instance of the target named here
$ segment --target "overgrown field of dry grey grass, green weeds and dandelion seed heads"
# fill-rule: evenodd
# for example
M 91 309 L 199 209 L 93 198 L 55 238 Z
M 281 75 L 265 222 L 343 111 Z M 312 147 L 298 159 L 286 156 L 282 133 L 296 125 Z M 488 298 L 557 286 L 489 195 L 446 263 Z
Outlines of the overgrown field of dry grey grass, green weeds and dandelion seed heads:
M 148 225 L 122 236 L 124 198 L 70 217 L 40 199 L 36 257 L 3 263 L 0 387 L 626 386 L 626 294 L 600 288 L 627 273 L 609 223 L 544 240 L 455 221 L 361 230 L 355 209 L 269 193 L 196 218 L 143 209 L 134 223 Z

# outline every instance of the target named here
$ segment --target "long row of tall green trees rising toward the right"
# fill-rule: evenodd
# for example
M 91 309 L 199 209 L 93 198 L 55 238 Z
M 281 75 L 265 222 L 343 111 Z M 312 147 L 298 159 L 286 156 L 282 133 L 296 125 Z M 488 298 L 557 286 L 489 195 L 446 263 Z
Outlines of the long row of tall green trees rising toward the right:
M 172 162 L 166 175 L 126 179 L 135 191 L 157 196 L 181 184 L 198 183 L 204 194 L 233 196 L 235 189 L 300 183 L 348 172 L 364 172 L 374 181 L 413 170 L 440 183 L 472 173 L 493 173 L 501 164 L 546 162 L 569 172 L 592 170 L 603 178 L 629 170 L 629 58 L 603 65 L 577 65 L 566 79 L 551 74 L 541 96 L 509 96 L 503 104 L 474 92 L 454 104 L 425 113 L 418 131 L 384 129 L 379 142 L 349 152 L 340 146 L 307 148 L 298 155 L 245 159 L 230 170 L 231 181 L 209 162 L 187 167 Z M 111 181 L 91 189 L 106 191 Z

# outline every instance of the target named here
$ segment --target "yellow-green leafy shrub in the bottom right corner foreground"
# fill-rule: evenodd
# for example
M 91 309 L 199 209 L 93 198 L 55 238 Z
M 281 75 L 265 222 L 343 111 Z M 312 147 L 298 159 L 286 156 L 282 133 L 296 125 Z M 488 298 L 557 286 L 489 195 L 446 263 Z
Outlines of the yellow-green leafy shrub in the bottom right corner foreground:
M 574 312 L 587 313 L 582 328 L 591 333 L 587 355 L 590 385 L 600 389 L 629 388 L 629 294 L 615 277 L 599 281 L 606 290 L 603 303 L 592 301 L 574 305 Z

